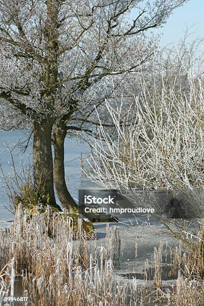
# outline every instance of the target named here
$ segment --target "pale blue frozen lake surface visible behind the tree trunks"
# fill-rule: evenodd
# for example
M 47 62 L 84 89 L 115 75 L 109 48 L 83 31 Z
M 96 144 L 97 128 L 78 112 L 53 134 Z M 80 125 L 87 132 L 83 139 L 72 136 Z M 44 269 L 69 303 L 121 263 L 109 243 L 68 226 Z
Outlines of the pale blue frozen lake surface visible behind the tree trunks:
M 4 174 L 12 173 L 11 156 L 8 152 L 6 144 L 13 146 L 19 139 L 23 141 L 27 138 L 27 134 L 22 131 L 2 131 L 0 132 L 0 164 Z M 85 187 L 93 187 L 95 184 L 88 179 L 81 178 L 80 156 L 82 158 L 88 156 L 90 147 L 85 143 L 80 143 L 74 138 L 66 138 L 64 145 L 64 165 L 65 177 L 69 192 L 74 198 L 78 198 L 78 189 Z M 19 149 L 13 150 L 13 157 L 15 165 L 21 167 L 21 160 L 26 165 L 28 161 L 32 161 L 32 147 L 28 146 L 27 150 L 22 153 Z M 84 159 L 85 160 L 85 159 Z M 0 173 L 0 227 L 8 226 L 9 221 L 13 219 L 13 214 L 6 210 L 9 208 L 9 199 L 7 197 L 7 189 L 5 186 L 2 173 Z M 57 199 L 57 198 L 56 198 Z M 57 203 L 59 201 L 57 199 Z

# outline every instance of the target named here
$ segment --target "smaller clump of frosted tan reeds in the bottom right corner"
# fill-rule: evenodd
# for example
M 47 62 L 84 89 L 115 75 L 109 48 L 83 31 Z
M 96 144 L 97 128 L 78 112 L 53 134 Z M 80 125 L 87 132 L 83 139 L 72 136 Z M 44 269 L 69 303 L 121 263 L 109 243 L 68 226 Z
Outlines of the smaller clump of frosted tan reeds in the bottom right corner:
M 165 303 L 169 306 L 204 304 L 204 275 L 200 273 L 203 270 L 203 257 L 195 250 L 183 244 L 174 248 L 166 244 L 164 248 L 160 243 L 158 248 L 154 248 L 151 266 L 154 269 L 153 281 L 146 291 L 143 290 L 145 299 L 150 296 L 151 302 Z M 162 269 L 164 266 L 169 267 L 167 276 L 175 277 L 175 282 L 171 286 L 163 284 Z M 146 271 L 144 279 L 147 280 Z

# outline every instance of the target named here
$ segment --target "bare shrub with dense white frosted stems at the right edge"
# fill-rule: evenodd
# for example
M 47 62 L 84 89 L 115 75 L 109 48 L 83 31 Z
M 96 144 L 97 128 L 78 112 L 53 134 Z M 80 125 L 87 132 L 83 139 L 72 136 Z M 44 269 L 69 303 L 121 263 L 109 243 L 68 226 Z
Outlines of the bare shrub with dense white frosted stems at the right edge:
M 171 56 L 176 58 L 176 50 Z M 115 107 L 106 101 L 117 137 L 111 139 L 100 125 L 89 176 L 105 187 L 118 188 L 135 205 L 154 207 L 154 215 L 167 229 L 161 233 L 171 234 L 204 258 L 200 234 L 204 211 L 203 74 L 199 60 L 190 53 L 188 59 L 186 65 L 180 58 L 185 88 L 179 73 L 171 75 L 166 85 L 163 71 L 158 73 L 152 67 L 151 87 L 149 79 L 141 79 L 141 93 L 126 108 L 124 122 L 120 122 L 123 101 L 115 100 Z M 132 112 L 134 120 L 130 120 Z M 166 216 L 158 203 L 158 192 L 170 192 L 189 209 L 188 215 Z

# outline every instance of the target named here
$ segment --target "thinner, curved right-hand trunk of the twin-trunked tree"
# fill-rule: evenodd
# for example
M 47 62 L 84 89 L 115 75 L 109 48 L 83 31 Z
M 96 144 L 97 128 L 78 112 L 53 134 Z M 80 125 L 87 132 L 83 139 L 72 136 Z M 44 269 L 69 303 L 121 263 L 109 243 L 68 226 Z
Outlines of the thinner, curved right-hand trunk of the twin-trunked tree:
M 78 212 L 78 206 L 70 195 L 64 175 L 64 139 L 66 136 L 65 124 L 58 122 L 54 128 L 54 185 L 57 196 L 63 208 L 69 212 Z

